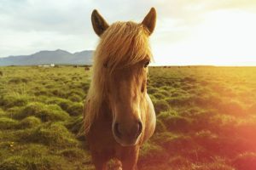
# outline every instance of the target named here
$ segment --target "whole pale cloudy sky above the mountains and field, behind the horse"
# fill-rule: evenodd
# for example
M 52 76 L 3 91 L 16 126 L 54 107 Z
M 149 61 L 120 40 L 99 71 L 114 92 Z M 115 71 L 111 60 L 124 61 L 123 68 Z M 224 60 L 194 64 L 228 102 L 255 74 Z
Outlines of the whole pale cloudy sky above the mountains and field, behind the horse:
M 0 0 L 0 57 L 95 49 L 94 8 L 112 24 L 151 7 L 153 65 L 256 65 L 255 0 Z

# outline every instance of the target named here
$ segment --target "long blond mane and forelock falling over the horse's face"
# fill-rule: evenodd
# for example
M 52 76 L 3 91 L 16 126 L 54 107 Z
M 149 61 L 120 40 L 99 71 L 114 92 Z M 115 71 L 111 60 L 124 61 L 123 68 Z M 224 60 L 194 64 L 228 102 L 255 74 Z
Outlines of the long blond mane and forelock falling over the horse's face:
M 134 22 L 116 22 L 102 34 L 94 53 L 90 89 L 84 105 L 84 131 L 88 133 L 106 99 L 108 73 L 148 57 L 148 30 Z

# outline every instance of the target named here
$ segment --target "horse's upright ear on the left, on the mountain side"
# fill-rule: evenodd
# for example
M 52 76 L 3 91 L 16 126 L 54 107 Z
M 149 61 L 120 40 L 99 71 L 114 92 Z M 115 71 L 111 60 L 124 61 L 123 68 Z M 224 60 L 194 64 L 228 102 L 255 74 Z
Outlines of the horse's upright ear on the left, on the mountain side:
M 94 9 L 91 14 L 91 23 L 98 36 L 101 36 L 102 33 L 108 29 L 108 23 L 96 9 Z

